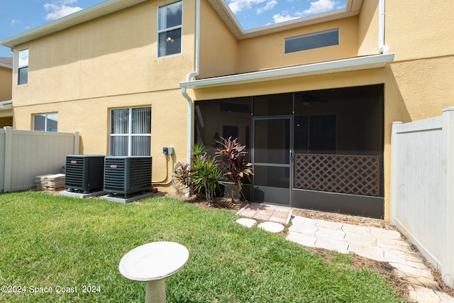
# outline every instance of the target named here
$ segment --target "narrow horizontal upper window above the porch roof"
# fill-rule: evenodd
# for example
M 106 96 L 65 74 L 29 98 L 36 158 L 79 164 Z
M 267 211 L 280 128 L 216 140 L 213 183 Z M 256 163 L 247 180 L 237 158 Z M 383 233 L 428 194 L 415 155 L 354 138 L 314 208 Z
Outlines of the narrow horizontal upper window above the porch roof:
M 339 28 L 309 35 L 285 39 L 285 53 L 299 52 L 300 50 L 311 50 L 313 48 L 324 48 L 325 46 L 339 44 Z

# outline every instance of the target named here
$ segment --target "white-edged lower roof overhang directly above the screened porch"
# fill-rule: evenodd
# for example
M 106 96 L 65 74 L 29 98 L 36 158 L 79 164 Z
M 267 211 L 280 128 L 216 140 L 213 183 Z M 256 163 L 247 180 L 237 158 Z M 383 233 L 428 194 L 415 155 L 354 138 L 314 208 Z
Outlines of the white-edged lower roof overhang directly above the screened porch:
M 228 75 L 194 81 L 180 82 L 180 87 L 190 89 L 202 89 L 208 87 L 221 87 L 226 85 L 246 84 L 264 82 L 279 79 L 306 77 L 313 75 L 331 74 L 334 72 L 350 72 L 355 70 L 370 70 L 386 67 L 389 62 L 394 61 L 394 53 L 370 55 L 365 57 L 354 57 L 343 60 L 319 62 L 308 65 L 282 67 L 274 70 L 261 70 L 258 72 L 247 72 L 239 75 Z

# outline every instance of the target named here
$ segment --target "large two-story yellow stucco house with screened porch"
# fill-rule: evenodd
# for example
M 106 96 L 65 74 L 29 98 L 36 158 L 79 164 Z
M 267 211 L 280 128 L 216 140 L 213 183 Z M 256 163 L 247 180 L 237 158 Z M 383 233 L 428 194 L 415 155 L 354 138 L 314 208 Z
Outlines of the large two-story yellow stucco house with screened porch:
M 251 200 L 389 219 L 392 122 L 453 106 L 453 11 L 347 0 L 243 31 L 223 0 L 107 0 L 0 41 L 14 128 L 152 155 L 161 190 L 194 142 L 234 136 L 255 165 Z

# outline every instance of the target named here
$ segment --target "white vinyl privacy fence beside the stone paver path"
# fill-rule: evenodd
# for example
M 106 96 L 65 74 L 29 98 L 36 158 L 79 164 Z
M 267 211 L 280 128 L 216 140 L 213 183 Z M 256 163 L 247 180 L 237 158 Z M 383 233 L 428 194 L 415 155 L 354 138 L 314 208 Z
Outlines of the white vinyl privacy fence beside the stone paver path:
M 454 107 L 392 125 L 391 221 L 454 287 Z

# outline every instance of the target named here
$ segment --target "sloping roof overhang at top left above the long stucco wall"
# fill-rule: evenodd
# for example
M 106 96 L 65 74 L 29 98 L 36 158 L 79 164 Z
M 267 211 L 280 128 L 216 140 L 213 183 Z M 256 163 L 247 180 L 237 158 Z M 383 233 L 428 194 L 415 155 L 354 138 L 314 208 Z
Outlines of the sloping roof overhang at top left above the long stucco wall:
M 87 9 L 83 9 L 82 11 L 77 11 L 76 13 L 72 13 L 68 16 L 59 18 L 55 21 L 45 23 L 42 26 L 38 26 L 37 28 L 32 28 L 31 30 L 24 31 L 23 33 L 13 35 L 10 38 L 0 40 L 0 45 L 13 48 L 16 45 L 27 43 L 28 41 L 44 37 L 45 35 L 56 33 L 57 31 L 62 31 L 72 26 L 77 26 L 78 24 L 93 20 L 95 18 L 99 18 L 101 16 L 105 16 L 109 13 L 120 11 L 121 9 L 126 9 L 130 6 L 140 4 L 145 1 L 147 0 L 103 1 L 100 4 L 90 6 Z

